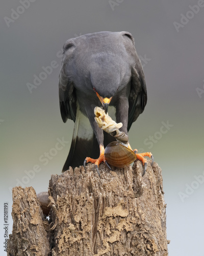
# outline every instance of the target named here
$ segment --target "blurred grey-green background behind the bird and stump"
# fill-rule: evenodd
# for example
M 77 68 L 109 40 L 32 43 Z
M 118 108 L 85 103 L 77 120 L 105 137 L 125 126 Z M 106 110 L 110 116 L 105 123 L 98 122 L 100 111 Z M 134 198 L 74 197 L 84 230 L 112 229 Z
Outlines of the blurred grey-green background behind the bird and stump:
M 148 95 L 130 143 L 151 151 L 162 168 L 169 255 L 203 256 L 203 7 L 202 0 L 1 3 L 1 255 L 4 203 L 12 232 L 11 188 L 46 191 L 69 152 L 73 122 L 63 123 L 58 100 L 64 42 L 97 31 L 129 31 Z

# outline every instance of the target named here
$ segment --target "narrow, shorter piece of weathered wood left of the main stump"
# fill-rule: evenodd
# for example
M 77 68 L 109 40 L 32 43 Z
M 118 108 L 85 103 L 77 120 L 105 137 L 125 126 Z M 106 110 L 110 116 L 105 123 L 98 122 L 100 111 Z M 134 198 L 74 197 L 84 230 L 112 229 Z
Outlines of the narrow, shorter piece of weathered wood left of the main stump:
M 46 227 L 49 229 L 49 226 L 33 187 L 13 188 L 12 217 L 13 230 L 9 236 L 7 255 L 48 255 L 50 245 Z

